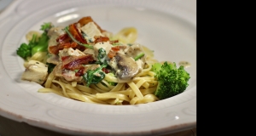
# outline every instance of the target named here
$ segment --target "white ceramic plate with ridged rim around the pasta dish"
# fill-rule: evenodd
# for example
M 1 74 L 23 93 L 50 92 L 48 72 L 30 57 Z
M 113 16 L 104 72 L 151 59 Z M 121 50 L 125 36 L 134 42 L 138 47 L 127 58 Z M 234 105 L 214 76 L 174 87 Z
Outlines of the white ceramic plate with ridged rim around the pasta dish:
M 61 133 L 149 135 L 196 127 L 195 0 L 49 0 L 15 1 L 0 14 L 0 115 Z M 68 25 L 90 15 L 116 33 L 138 31 L 137 42 L 155 58 L 189 61 L 189 87 L 170 99 L 143 105 L 95 105 L 40 94 L 38 84 L 20 81 L 23 61 L 15 54 L 27 31 L 43 22 Z

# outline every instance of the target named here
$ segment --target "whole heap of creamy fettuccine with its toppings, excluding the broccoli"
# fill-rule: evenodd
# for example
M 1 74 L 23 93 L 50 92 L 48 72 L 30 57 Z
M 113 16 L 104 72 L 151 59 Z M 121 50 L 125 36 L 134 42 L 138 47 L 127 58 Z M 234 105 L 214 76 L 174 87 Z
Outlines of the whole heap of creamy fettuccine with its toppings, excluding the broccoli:
M 29 31 L 27 41 L 32 40 L 33 34 L 43 37 L 37 31 Z M 102 105 L 137 105 L 159 100 L 154 95 L 158 81 L 150 71 L 158 60 L 150 49 L 136 43 L 135 27 L 125 27 L 113 35 L 90 17 L 84 17 L 66 28 L 51 26 L 47 36 L 47 50 L 27 57 L 24 65 L 26 71 L 37 72 L 38 78 L 44 72 L 32 71 L 29 66 L 36 65 L 34 62 L 48 68 L 49 64 L 54 65 L 53 70 L 48 69 L 40 80 L 28 78 L 26 71 L 22 77 L 40 83 L 44 88 L 39 93 Z M 96 81 L 98 78 L 102 79 Z

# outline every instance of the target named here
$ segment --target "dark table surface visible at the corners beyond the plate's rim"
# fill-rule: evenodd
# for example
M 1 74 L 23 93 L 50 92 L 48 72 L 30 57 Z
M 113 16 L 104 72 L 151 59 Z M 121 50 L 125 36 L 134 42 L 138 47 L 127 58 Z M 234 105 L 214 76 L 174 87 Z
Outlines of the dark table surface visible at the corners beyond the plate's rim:
M 0 0 L 0 14 L 12 0 Z M 0 116 L 0 136 L 71 136 L 64 133 L 56 133 L 41 127 L 34 127 L 26 122 L 16 122 Z M 196 136 L 196 127 L 182 132 L 166 134 L 163 136 Z

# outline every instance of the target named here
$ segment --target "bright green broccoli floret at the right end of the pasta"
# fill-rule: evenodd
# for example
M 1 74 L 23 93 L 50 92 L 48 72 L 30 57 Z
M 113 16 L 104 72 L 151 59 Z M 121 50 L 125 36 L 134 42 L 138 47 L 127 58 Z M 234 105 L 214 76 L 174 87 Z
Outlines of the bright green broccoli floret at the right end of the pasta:
M 155 96 L 159 99 L 167 99 L 183 91 L 189 86 L 189 73 L 184 70 L 183 65 L 177 68 L 176 63 L 164 64 L 155 63 L 152 65 L 151 71 L 156 73 L 155 77 L 158 80 L 158 85 Z

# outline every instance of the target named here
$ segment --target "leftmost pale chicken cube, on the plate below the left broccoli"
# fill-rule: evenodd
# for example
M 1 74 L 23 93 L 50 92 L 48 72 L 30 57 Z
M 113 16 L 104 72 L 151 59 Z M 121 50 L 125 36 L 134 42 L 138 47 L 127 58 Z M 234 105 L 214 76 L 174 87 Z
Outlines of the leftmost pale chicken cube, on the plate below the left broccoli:
M 27 65 L 25 65 L 26 70 L 23 72 L 21 79 L 38 82 L 43 84 L 48 75 L 48 65 L 37 60 L 29 60 Z

